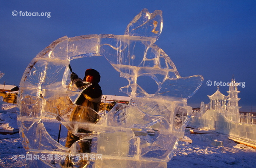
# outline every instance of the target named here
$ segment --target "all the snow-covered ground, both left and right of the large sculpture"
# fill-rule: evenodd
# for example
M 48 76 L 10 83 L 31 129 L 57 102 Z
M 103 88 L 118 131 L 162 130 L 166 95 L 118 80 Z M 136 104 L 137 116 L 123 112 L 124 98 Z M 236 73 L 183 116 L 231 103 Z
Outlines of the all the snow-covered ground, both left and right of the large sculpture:
M 6 115 L 13 115 L 15 105 L 4 104 L 2 111 Z M 2 114 L 2 113 L 0 113 Z M 1 116 L 1 115 L 0 115 Z M 1 118 L 1 117 L 0 117 Z M 2 117 L 3 118 L 3 117 Z M 2 119 L 3 120 L 3 119 Z M 4 123 L 0 120 L 1 126 L 15 124 L 15 118 Z M 58 128 L 58 123 L 54 123 Z M 47 124 L 46 124 L 47 125 Z M 48 133 L 57 140 L 58 129 L 47 127 Z M 61 127 L 60 143 L 65 144 L 67 130 Z M 186 129 L 185 137 L 192 140 L 192 143 L 180 142 L 175 156 L 167 164 L 168 168 L 209 168 L 209 167 L 235 167 L 235 168 L 255 168 L 256 167 L 256 149 L 237 144 L 229 140 L 222 134 L 190 134 Z M 223 142 L 223 146 L 215 146 L 214 140 Z M 3 135 L 0 134 L 0 167 L 18 168 L 24 167 L 26 161 L 19 158 L 19 155 L 26 155 L 26 151 L 21 144 L 19 134 Z M 17 156 L 17 159 L 15 158 Z

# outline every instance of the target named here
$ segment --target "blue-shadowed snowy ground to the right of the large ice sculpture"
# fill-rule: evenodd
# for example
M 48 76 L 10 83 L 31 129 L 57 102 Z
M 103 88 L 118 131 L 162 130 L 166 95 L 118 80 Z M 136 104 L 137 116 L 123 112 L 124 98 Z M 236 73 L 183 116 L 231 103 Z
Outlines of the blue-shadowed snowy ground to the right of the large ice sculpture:
M 235 143 L 221 134 L 190 134 L 185 136 L 193 142 L 180 142 L 180 148 L 168 162 L 168 168 L 255 168 L 256 149 Z M 214 146 L 214 140 L 222 141 L 223 146 Z

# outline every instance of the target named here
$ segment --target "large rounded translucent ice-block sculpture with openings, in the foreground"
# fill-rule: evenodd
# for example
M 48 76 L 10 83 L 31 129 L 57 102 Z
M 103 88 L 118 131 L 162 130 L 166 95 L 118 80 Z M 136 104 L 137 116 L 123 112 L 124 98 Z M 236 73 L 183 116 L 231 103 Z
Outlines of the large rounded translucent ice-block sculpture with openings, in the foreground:
M 28 153 L 52 159 L 27 160 L 29 167 L 60 167 L 68 156 L 74 167 L 166 167 L 192 112 L 186 100 L 201 86 L 203 77 L 179 75 L 171 59 L 154 44 L 162 27 L 162 11 L 143 9 L 123 36 L 64 36 L 38 53 L 20 81 L 17 120 Z M 70 60 L 90 56 L 104 56 L 128 80 L 120 90 L 132 101 L 116 104 L 107 115 L 98 115 L 97 122 L 71 123 L 70 114 L 77 106 L 73 102 L 80 90 L 70 84 Z M 140 76 L 154 79 L 158 90 L 145 92 L 137 84 Z M 96 114 L 92 109 L 90 113 Z M 56 118 L 82 138 L 71 148 L 47 133 L 44 120 L 56 122 Z M 89 144 L 88 152 L 81 152 L 82 142 Z

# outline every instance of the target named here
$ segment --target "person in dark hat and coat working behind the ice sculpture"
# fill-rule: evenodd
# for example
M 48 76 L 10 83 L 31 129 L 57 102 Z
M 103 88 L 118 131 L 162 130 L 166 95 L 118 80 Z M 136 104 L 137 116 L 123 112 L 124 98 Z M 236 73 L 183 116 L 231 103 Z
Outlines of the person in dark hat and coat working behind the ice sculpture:
M 87 87 L 88 83 L 86 82 L 89 82 L 89 84 L 91 84 L 89 87 L 87 87 L 81 92 L 79 98 L 76 100 L 75 104 L 77 104 L 78 106 L 73 110 L 70 116 L 70 121 L 84 121 L 96 123 L 98 118 L 98 114 L 96 112 L 99 112 L 99 106 L 102 98 L 102 90 L 99 86 L 99 72 L 94 69 L 87 69 L 84 74 L 84 79 L 79 78 L 76 75 L 76 73 L 72 72 L 70 78 L 73 84 L 75 84 L 76 87 L 78 87 L 80 90 L 83 90 L 84 87 Z M 84 106 L 89 108 L 83 108 Z M 96 112 L 93 112 L 93 110 L 90 109 L 93 109 Z M 84 129 L 83 133 L 90 134 L 91 132 L 89 130 Z M 70 148 L 73 143 L 80 139 L 80 137 L 68 131 L 65 147 Z M 80 148 L 80 152 L 90 152 L 90 140 L 89 142 L 82 142 L 80 144 Z

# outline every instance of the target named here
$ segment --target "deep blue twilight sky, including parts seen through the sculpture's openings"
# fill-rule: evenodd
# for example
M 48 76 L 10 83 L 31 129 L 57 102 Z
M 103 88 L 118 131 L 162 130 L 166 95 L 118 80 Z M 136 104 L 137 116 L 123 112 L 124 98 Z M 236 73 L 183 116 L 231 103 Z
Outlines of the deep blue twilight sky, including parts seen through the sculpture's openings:
M 214 81 L 230 82 L 234 75 L 236 82 L 245 82 L 238 87 L 240 111 L 256 112 L 256 1 L 251 0 L 0 1 L 0 71 L 5 73 L 0 84 L 19 85 L 29 62 L 62 36 L 123 35 L 143 8 L 163 11 L 163 31 L 156 44 L 180 76 L 204 76 L 201 88 L 188 100 L 190 106 L 209 103 L 207 95 L 217 88 Z M 23 17 L 20 11 L 50 12 L 50 17 Z M 125 95 L 118 89 L 128 82 L 103 57 L 74 60 L 71 66 L 81 78 L 84 70 L 95 68 L 104 94 Z M 148 92 L 156 87 L 150 79 L 142 85 Z M 227 95 L 228 87 L 220 91 Z

